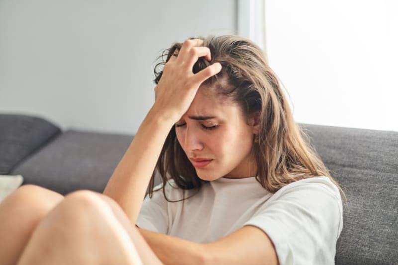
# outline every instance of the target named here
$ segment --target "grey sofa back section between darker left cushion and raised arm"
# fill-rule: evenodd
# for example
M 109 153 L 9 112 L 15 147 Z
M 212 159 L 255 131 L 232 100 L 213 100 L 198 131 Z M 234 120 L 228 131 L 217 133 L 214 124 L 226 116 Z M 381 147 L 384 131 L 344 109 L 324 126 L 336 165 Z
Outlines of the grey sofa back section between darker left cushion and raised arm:
M 132 138 L 70 130 L 12 174 L 23 175 L 24 184 L 40 185 L 61 194 L 78 189 L 102 192 Z

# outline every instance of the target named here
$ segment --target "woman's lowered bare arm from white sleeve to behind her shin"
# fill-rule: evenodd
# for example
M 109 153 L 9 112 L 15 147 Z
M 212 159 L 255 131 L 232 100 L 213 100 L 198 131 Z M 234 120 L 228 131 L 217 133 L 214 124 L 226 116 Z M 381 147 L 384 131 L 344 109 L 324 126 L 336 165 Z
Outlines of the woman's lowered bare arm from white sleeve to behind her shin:
M 244 226 L 224 238 L 206 244 L 141 228 L 138 231 L 166 265 L 279 264 L 272 241 L 255 226 Z

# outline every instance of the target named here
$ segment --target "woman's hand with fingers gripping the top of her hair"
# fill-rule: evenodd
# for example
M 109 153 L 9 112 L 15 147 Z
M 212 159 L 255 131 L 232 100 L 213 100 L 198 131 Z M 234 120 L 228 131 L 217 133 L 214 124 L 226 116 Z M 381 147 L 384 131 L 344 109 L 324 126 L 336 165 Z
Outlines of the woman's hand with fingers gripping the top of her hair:
M 199 57 L 211 60 L 210 49 L 200 46 L 202 44 L 200 39 L 184 41 L 178 54 L 171 56 L 164 65 L 162 77 L 155 87 L 153 108 L 173 123 L 187 112 L 199 86 L 221 71 L 221 64 L 214 63 L 196 74 L 192 72 Z

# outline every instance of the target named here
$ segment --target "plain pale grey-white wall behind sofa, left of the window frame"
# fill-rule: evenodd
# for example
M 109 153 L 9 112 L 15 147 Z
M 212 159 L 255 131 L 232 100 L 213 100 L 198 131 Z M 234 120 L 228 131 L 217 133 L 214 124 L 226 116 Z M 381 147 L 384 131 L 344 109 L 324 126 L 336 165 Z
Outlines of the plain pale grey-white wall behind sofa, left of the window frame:
M 234 0 L 1 0 L 0 112 L 134 133 L 172 42 L 236 33 Z

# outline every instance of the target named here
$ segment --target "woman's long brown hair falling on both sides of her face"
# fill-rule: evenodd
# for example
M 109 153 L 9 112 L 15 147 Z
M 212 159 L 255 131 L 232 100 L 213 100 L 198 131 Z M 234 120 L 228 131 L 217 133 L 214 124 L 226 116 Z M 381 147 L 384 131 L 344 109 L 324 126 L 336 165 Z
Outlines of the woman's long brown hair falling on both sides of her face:
M 256 180 L 266 190 L 275 193 L 294 181 L 326 176 L 344 195 L 339 184 L 309 145 L 303 131 L 294 122 L 278 79 L 261 49 L 253 42 L 233 35 L 200 39 L 204 40 L 203 46 L 210 48 L 212 59 L 208 62 L 199 58 L 193 72 L 197 73 L 215 62 L 221 63 L 221 72 L 203 84 L 215 87 L 219 95 L 228 96 L 238 103 L 246 117 L 255 113 L 259 117 L 260 130 L 253 142 L 258 169 Z M 162 71 L 158 71 L 158 67 L 163 66 L 181 46 L 182 43 L 175 43 L 161 56 L 163 59 L 166 57 L 166 60 L 155 67 L 156 84 L 162 77 Z M 166 138 L 152 175 L 149 184 L 150 197 L 156 171 L 162 178 L 164 194 L 169 178 L 181 189 L 199 190 L 202 182 L 207 182 L 196 174 L 176 138 L 174 127 Z

